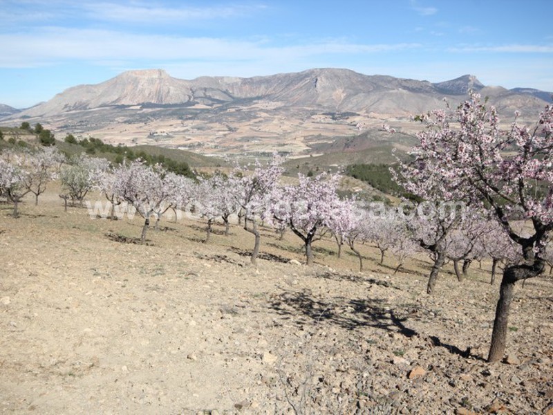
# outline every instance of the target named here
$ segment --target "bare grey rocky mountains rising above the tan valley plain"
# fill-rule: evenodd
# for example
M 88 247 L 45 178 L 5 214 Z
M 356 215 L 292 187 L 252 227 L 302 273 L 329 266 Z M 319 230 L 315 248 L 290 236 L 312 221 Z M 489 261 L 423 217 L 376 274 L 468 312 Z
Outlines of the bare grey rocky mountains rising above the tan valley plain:
M 124 72 L 101 84 L 74 86 L 19 115 L 55 116 L 75 110 L 141 104 L 205 104 L 212 107 L 223 103 L 240 104 L 244 99 L 263 99 L 287 107 L 406 116 L 440 107 L 444 95 L 463 98 L 469 90 L 484 88 L 473 75 L 431 84 L 329 68 L 265 77 L 179 80 L 165 71 L 152 69 Z M 512 100 L 521 96 L 525 104 L 543 106 L 541 98 L 547 96 L 547 93 L 532 89 L 491 92 L 498 98 L 495 104 L 500 110 L 503 100 L 511 107 Z

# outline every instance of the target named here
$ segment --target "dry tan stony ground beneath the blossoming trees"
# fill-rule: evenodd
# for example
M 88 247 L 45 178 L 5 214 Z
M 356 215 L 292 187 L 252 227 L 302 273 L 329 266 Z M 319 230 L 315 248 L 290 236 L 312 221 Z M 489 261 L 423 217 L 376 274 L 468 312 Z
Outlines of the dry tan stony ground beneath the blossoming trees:
M 0 204 L 0 412 L 36 414 L 552 414 L 553 280 L 516 288 L 504 362 L 485 362 L 498 286 L 429 262 L 391 275 L 363 246 L 64 212 L 55 189 Z M 131 243 L 128 243 L 131 242 Z M 292 260 L 292 263 L 290 263 Z

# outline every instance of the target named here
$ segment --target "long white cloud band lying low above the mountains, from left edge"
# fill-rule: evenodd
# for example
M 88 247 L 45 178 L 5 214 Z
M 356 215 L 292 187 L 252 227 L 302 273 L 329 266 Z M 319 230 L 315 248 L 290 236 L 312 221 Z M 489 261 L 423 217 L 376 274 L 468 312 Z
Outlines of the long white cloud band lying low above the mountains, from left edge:
M 211 62 L 302 59 L 323 55 L 362 55 L 417 48 L 418 44 L 352 44 L 341 40 L 271 46 L 267 39 L 241 41 L 210 37 L 137 35 L 111 30 L 45 28 L 32 34 L 0 35 L 0 67 L 40 66 L 76 59 L 82 62 L 147 60 Z

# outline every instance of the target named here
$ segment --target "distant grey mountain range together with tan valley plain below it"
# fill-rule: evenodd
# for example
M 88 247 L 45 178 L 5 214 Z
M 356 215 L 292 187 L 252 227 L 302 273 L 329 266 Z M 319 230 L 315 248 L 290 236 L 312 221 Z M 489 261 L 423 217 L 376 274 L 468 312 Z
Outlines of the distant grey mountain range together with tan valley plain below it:
M 348 69 L 321 68 L 263 77 L 180 80 L 161 69 L 127 71 L 95 85 L 66 89 L 23 111 L 0 106 L 0 124 L 41 122 L 54 131 L 110 142 L 242 151 L 350 136 L 383 121 L 405 127 L 410 117 L 456 104 L 468 91 L 489 97 L 499 113 L 535 118 L 551 94 L 485 86 L 474 75 L 431 83 Z M 17 112 L 15 112 L 17 111 Z M 294 143 L 295 141 L 295 143 Z

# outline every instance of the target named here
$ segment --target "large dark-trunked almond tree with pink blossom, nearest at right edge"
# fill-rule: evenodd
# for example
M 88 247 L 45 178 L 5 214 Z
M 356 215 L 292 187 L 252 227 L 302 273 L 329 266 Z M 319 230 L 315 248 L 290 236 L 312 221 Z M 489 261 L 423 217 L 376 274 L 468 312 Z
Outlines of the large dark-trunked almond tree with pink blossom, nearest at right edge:
M 451 194 L 449 184 L 454 183 L 460 194 L 500 223 L 524 258 L 503 270 L 488 356 L 489 362 L 496 362 L 505 353 L 516 282 L 536 277 L 545 268 L 545 246 L 553 229 L 553 105 L 545 107 L 533 127 L 518 122 L 516 113 L 511 127 L 502 129 L 496 109 L 472 93 L 453 113 L 431 111 L 419 120 L 427 129 L 418 135 L 413 152 L 420 172 L 411 176 L 413 181 L 424 189 L 420 178 L 440 178 L 443 196 Z M 517 216 L 531 226 L 529 235 L 514 227 Z

